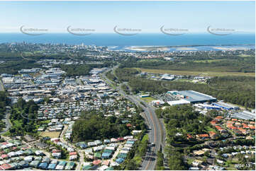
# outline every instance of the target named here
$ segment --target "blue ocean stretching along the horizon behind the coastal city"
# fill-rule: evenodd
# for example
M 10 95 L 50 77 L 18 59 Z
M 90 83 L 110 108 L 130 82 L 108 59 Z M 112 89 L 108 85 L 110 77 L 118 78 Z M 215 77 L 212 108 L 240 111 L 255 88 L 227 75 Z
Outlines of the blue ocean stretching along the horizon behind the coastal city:
M 165 35 L 161 33 L 118 35 L 116 33 L 97 33 L 91 35 L 72 35 L 69 33 L 48 33 L 44 35 L 26 35 L 23 33 L 0 33 L 0 43 L 4 42 L 30 43 L 65 43 L 67 45 L 97 45 L 113 47 L 115 50 L 130 46 L 189 46 L 189 45 L 239 45 L 255 48 L 255 34 L 211 35 L 184 34 Z M 203 48 L 203 49 L 205 49 Z M 207 49 L 207 48 L 206 48 Z

